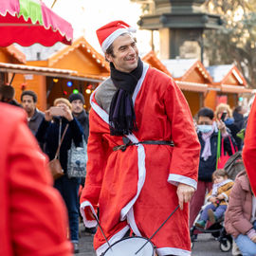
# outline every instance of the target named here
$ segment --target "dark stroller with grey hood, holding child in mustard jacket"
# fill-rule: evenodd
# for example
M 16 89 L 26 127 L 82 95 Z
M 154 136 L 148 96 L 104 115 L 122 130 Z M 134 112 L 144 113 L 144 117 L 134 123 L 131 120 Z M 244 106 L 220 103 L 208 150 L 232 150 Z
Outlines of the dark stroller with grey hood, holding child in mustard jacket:
M 235 180 L 237 174 L 245 170 L 243 164 L 242 153 L 241 151 L 236 152 L 234 155 L 229 157 L 229 160 L 225 164 L 225 171 L 229 174 L 229 178 Z M 208 204 L 205 204 L 198 215 L 196 216 L 193 226 L 191 228 L 191 242 L 192 247 L 197 237 L 197 233 L 210 233 L 215 240 L 220 243 L 220 250 L 223 252 L 228 252 L 232 247 L 232 237 L 226 232 L 224 227 L 224 217 L 218 219 L 214 224 L 210 225 L 208 222 L 207 229 L 199 228 L 195 226 L 195 223 L 200 218 L 201 212 L 207 207 Z M 199 232 L 198 232 L 199 231 Z

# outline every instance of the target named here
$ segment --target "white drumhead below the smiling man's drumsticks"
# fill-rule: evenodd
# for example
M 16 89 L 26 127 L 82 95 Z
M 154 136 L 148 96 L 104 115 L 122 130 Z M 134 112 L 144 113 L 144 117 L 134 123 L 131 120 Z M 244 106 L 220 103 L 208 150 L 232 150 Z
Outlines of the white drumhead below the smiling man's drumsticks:
M 145 245 L 146 242 L 148 243 Z M 143 248 L 137 252 L 141 247 Z M 103 256 L 155 256 L 155 247 L 144 237 L 126 237 L 108 248 Z

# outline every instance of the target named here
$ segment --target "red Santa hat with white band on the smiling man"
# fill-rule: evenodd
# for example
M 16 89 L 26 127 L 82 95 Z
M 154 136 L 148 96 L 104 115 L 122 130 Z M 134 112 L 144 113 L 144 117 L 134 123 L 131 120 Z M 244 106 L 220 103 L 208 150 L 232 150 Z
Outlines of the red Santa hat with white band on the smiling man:
M 100 27 L 96 33 L 101 45 L 102 51 L 105 53 L 106 49 L 123 33 L 136 32 L 134 27 L 130 27 L 123 21 L 114 21 Z

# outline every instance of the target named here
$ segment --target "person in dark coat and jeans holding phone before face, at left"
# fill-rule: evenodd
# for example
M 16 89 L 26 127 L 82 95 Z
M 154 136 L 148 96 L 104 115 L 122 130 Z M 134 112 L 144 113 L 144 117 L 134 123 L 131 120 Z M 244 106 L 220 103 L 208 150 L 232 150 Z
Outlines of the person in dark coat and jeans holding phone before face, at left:
M 80 178 L 68 178 L 66 175 L 67 151 L 71 147 L 73 140 L 76 147 L 82 143 L 82 127 L 72 116 L 71 104 L 64 98 L 58 98 L 53 103 L 54 106 L 46 110 L 45 119 L 42 120 L 36 137 L 40 143 L 46 145 L 46 155 L 52 160 L 56 154 L 60 137 L 64 133 L 66 125 L 68 128 L 64 135 L 59 159 L 64 169 L 64 176 L 54 181 L 54 187 L 61 192 L 68 210 L 70 240 L 74 246 L 74 252 L 79 252 L 79 197 L 78 191 Z

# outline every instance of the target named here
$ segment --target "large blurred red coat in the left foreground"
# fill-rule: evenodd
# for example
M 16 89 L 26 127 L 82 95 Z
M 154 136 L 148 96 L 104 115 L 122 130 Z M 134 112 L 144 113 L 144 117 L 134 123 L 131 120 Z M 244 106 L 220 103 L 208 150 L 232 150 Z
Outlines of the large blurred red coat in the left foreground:
M 25 112 L 0 103 L 0 120 L 0 255 L 72 255 L 64 202 Z

